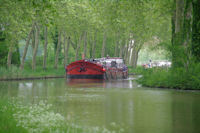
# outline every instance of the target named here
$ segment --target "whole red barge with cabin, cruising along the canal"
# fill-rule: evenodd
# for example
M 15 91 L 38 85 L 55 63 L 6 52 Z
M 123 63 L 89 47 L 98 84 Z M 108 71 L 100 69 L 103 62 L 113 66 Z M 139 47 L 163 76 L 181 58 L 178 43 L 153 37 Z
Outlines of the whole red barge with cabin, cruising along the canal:
M 125 79 L 128 68 L 122 58 L 84 59 L 66 66 L 68 79 Z

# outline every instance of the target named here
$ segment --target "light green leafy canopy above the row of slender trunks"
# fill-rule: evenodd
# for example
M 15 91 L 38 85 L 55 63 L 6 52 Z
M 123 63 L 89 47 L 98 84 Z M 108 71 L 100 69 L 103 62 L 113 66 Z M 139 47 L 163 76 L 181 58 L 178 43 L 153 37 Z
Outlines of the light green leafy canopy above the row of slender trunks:
M 164 40 L 164 37 L 168 39 L 168 33 L 171 33 L 169 30 L 170 17 L 168 17 L 171 2 L 163 0 L 2 0 L 0 5 L 3 7 L 0 9 L 0 27 L 4 29 L 7 48 L 26 40 L 32 24 L 38 23 L 41 29 L 39 49 L 44 43 L 43 28 L 48 27 L 48 54 L 54 54 L 58 31 L 62 34 L 65 32 L 67 37 L 70 36 L 73 42 L 68 56 L 70 61 L 74 60 L 75 49 L 82 32 L 88 33 L 88 53 L 92 53 L 92 45 L 96 36 L 96 57 L 101 56 L 104 32 L 107 34 L 106 54 L 110 56 L 115 53 L 116 42 L 119 41 L 119 44 L 124 46 L 130 34 L 137 40 L 138 47 L 141 47 L 153 36 L 159 36 Z M 163 31 L 166 32 L 163 33 Z M 95 35 L 96 32 L 97 35 Z M 17 43 L 13 44 L 13 42 Z M 80 51 L 84 49 L 83 42 L 82 40 Z M 63 45 L 61 47 L 63 48 Z M 63 50 L 61 52 L 63 55 Z M 87 58 L 90 58 L 89 55 L 87 54 Z M 5 61 L 2 64 L 5 65 Z

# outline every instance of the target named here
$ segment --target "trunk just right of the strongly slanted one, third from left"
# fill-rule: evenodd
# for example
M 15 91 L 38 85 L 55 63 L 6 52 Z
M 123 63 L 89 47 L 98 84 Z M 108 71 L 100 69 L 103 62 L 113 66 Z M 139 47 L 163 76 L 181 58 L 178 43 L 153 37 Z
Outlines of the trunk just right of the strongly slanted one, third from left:
M 40 36 L 40 27 L 35 24 L 36 26 L 36 31 L 35 31 L 35 46 L 33 50 L 33 58 L 32 58 L 32 70 L 36 69 L 36 55 L 37 55 L 37 50 L 38 50 L 38 45 L 39 45 L 39 36 Z

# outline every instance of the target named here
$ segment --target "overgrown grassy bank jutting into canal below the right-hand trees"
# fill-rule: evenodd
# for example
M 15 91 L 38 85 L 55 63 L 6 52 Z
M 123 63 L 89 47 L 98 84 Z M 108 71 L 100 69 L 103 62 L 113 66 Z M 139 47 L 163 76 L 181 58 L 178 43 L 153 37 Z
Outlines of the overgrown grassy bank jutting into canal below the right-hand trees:
M 150 68 L 139 67 L 131 72 L 142 74 L 138 82 L 147 87 L 174 88 L 174 89 L 200 89 L 200 63 L 185 68 Z

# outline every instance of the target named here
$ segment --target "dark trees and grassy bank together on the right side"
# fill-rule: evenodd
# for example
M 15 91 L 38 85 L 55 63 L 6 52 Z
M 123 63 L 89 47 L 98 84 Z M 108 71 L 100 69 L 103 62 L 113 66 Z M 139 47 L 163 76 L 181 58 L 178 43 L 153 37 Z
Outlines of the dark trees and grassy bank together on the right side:
M 176 0 L 173 4 L 170 69 L 142 72 L 139 82 L 149 87 L 200 89 L 200 1 Z M 167 45 L 165 45 L 166 47 Z

